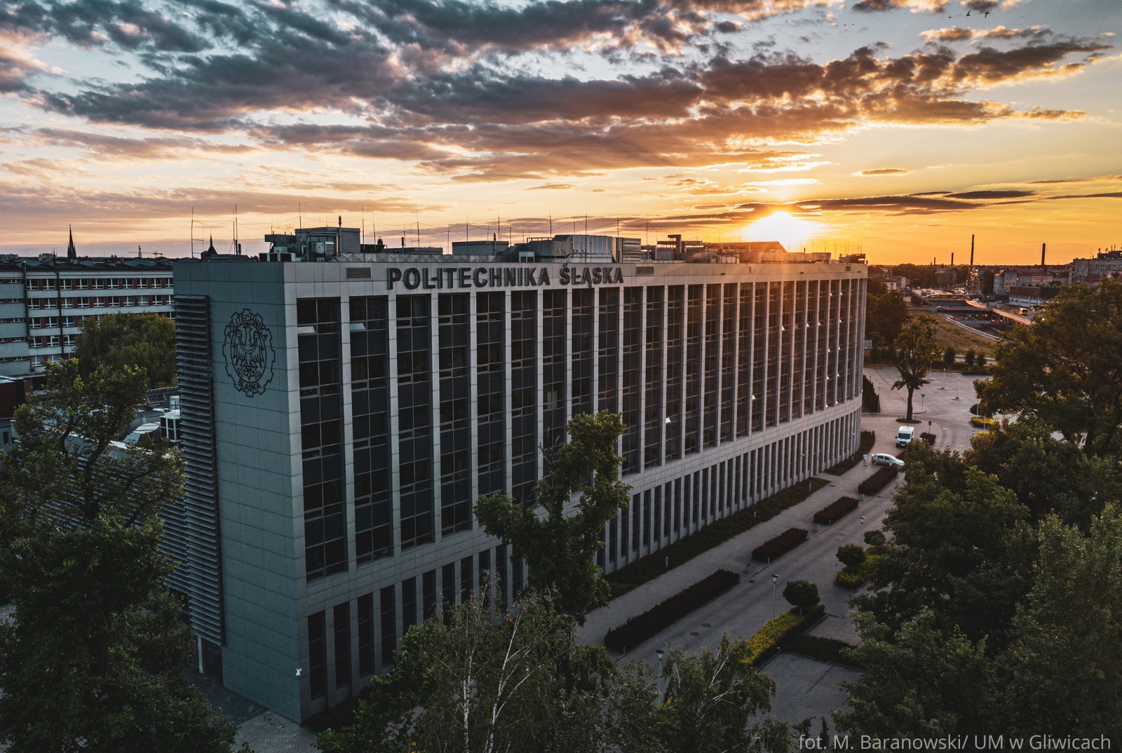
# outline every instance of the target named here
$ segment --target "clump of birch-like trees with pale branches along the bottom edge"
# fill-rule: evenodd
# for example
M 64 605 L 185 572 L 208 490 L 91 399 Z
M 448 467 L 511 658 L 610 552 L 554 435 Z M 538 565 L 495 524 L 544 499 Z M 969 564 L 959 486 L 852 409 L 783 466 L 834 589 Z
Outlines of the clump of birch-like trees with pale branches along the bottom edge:
M 355 723 L 321 734 L 318 746 L 325 753 L 787 749 L 787 725 L 761 718 L 775 686 L 752 668 L 743 642 L 726 635 L 716 653 L 670 652 L 660 699 L 645 662 L 619 669 L 603 648 L 577 645 L 574 621 L 552 598 L 526 591 L 506 613 L 497 603 L 476 595 L 412 628 L 394 670 L 371 680 Z

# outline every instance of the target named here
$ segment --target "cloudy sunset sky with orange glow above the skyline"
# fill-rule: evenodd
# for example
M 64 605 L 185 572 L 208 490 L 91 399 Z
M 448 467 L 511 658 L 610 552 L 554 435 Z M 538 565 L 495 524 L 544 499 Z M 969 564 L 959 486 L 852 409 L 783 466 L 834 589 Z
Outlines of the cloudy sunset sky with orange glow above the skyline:
M 0 252 L 1122 247 L 1122 0 L 7 0 Z M 192 239 L 194 239 L 192 241 Z

